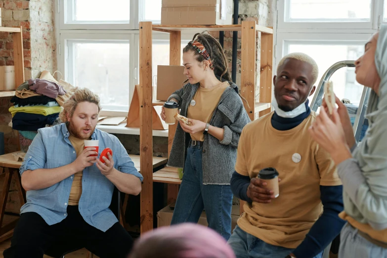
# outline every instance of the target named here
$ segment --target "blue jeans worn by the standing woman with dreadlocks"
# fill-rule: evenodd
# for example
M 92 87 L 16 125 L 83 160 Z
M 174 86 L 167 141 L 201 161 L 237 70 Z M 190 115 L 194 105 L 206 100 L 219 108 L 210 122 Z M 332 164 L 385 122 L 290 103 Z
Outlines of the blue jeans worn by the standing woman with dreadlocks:
M 190 146 L 171 224 L 197 223 L 203 209 L 210 228 L 228 240 L 231 235 L 230 185 L 203 184 L 202 149 Z

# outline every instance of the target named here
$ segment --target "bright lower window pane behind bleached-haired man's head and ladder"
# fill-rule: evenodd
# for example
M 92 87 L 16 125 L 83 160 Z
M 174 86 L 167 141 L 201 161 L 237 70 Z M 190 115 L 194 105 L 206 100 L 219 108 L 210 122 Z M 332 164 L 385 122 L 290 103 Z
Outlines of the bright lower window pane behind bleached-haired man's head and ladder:
M 311 56 L 318 65 L 319 75 L 316 86 L 326 70 L 334 63 L 344 60 L 356 60 L 364 53 L 364 45 L 312 45 L 290 44 L 289 53 L 303 52 Z M 355 80 L 354 68 L 341 68 L 331 77 L 335 94 L 340 98 L 347 98 L 353 104 L 359 104 L 363 86 Z M 311 100 L 313 96 L 309 97 Z

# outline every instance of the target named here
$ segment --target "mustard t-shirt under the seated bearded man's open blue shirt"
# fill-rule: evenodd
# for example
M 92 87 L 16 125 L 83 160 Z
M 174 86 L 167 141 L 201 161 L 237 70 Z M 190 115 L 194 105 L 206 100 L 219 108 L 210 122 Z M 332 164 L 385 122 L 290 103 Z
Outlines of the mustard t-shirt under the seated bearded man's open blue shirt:
M 77 152 L 77 157 L 84 151 L 85 140 L 78 139 L 70 134 L 69 140 Z M 78 205 L 82 194 L 82 171 L 74 174 L 73 184 L 71 185 L 69 205 Z

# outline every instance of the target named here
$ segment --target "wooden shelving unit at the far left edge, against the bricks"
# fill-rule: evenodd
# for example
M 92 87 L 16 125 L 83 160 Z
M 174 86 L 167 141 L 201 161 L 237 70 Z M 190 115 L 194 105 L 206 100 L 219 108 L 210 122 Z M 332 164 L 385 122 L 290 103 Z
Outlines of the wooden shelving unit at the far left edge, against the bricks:
M 0 32 L 12 33 L 13 39 L 13 60 L 15 63 L 15 89 L 24 83 L 24 56 L 23 56 L 23 36 L 22 27 L 7 28 L 0 27 Z M 15 91 L 0 91 L 0 97 L 9 97 L 15 95 Z

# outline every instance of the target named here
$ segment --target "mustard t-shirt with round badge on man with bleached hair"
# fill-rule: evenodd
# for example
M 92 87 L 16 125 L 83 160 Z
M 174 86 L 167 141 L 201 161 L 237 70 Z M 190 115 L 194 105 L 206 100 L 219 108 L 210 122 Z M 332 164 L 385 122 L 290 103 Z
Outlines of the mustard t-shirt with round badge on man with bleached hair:
M 243 129 L 235 171 L 253 178 L 264 168 L 275 168 L 281 178 L 279 196 L 269 204 L 246 203 L 238 225 L 268 244 L 296 248 L 323 211 L 320 185 L 342 182 L 330 155 L 308 132 L 316 113 L 285 131 L 272 127 L 273 113 Z

